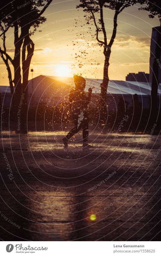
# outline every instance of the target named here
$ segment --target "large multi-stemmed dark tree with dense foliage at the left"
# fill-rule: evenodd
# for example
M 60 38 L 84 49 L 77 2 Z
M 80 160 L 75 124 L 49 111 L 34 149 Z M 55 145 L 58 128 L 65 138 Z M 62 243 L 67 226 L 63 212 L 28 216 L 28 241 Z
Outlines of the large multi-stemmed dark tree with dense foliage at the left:
M 0 1 L 1 21 L 0 28 L 2 44 L 0 46 L 0 55 L 4 61 L 7 71 L 11 94 L 14 97 L 14 112 L 17 113 L 20 96 L 24 93 L 23 101 L 23 127 L 21 131 L 27 132 L 27 84 L 29 75 L 29 66 L 34 52 L 34 43 L 30 36 L 36 31 L 40 24 L 46 21 L 42 16 L 52 0 L 37 1 Z M 39 8 L 42 9 L 40 10 Z M 6 32 L 9 28 L 14 29 L 14 58 L 8 54 L 5 46 Z M 33 30 L 32 30 L 33 28 Z M 21 49 L 22 47 L 22 49 Z M 3 49 L 2 49 L 3 48 Z M 22 50 L 22 54 L 21 54 Z M 20 59 L 22 58 L 22 77 Z M 14 67 L 14 74 L 11 74 L 10 65 Z M 13 79 L 14 77 L 14 79 Z M 22 82 L 21 82 L 22 80 Z M 14 86 L 13 86 L 14 83 Z

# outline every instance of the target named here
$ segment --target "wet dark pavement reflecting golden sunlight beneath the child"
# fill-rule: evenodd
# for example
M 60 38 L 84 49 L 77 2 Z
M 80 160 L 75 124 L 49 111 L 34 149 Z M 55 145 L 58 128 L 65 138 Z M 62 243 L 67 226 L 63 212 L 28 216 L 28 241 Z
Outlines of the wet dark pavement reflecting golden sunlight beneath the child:
M 2 136 L 2 240 L 160 240 L 161 136 L 95 133 L 84 151 L 60 132 Z

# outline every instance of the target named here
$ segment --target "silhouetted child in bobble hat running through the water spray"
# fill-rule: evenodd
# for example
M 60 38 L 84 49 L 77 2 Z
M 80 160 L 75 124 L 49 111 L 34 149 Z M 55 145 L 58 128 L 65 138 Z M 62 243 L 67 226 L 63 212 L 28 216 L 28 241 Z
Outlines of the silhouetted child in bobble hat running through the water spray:
M 74 76 L 75 89 L 72 89 L 69 94 L 69 101 L 72 103 L 72 118 L 74 122 L 74 128 L 63 138 L 65 147 L 68 147 L 68 140 L 76 134 L 80 129 L 83 129 L 83 147 L 89 147 L 88 145 L 88 112 L 87 107 L 91 100 L 92 89 L 88 89 L 88 96 L 84 92 L 85 79 L 81 76 Z

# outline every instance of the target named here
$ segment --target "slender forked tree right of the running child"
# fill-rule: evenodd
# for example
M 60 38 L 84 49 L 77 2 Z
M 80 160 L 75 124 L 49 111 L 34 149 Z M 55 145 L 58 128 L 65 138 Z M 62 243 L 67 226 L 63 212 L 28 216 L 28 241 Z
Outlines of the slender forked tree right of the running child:
M 111 54 L 111 47 L 113 46 L 113 42 L 116 37 L 116 31 L 117 31 L 117 17 L 118 15 L 127 7 L 134 5 L 137 3 L 137 0 L 110 0 L 110 1 L 104 1 L 104 0 L 80 0 L 81 4 L 77 6 L 77 8 L 83 8 L 84 11 L 88 14 L 87 19 L 87 24 L 89 24 L 89 20 L 92 20 L 94 22 L 94 25 L 96 27 L 96 40 L 98 41 L 98 44 L 100 46 L 103 46 L 104 50 L 104 56 L 105 56 L 105 61 L 104 61 L 104 72 L 103 72 L 103 82 L 101 84 L 101 98 L 102 98 L 102 109 L 101 112 L 103 113 L 103 116 L 101 119 L 101 122 L 105 121 L 105 116 L 106 116 L 106 96 L 107 96 L 107 87 L 108 87 L 108 82 L 109 82 L 109 75 L 108 75 L 108 70 L 109 70 L 109 60 L 110 60 L 110 54 Z M 140 3 L 142 1 L 139 1 Z M 113 17 L 113 31 L 112 35 L 110 37 L 109 42 L 107 42 L 107 30 L 104 24 L 104 9 L 109 8 L 114 11 L 114 17 Z M 97 14 L 99 14 L 99 18 L 97 18 Z M 100 39 L 99 35 L 103 36 L 103 40 Z

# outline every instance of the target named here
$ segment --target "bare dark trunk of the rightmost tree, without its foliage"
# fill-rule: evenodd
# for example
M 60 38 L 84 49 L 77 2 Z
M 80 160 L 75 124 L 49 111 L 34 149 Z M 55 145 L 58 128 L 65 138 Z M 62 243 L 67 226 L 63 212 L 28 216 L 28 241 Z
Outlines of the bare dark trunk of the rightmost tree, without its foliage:
M 156 121 L 157 117 L 157 97 L 158 97 L 158 85 L 159 85 L 159 65 L 157 60 L 160 62 L 160 52 L 161 52 L 161 23 L 159 28 L 159 35 L 156 42 L 155 49 L 155 58 L 153 62 L 153 75 L 152 75 L 152 84 L 151 84 L 151 117 Z

